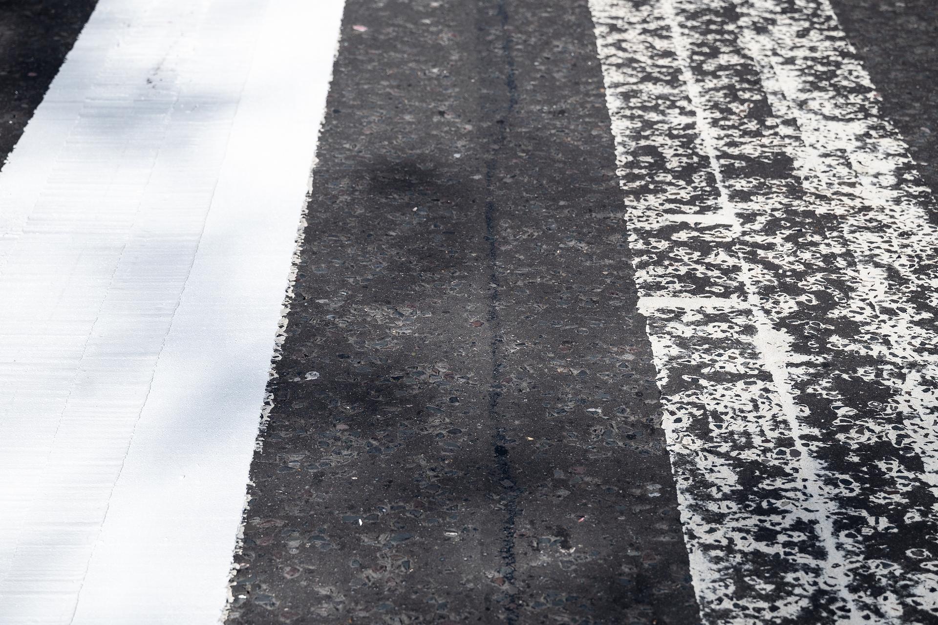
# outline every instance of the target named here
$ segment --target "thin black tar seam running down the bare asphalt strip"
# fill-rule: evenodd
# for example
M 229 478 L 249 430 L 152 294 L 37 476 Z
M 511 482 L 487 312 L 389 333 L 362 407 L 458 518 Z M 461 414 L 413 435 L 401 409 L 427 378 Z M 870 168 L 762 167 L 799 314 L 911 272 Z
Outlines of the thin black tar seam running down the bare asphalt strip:
M 505 6 L 505 0 L 498 3 L 497 15 L 499 25 L 502 30 L 502 58 L 506 65 L 505 86 L 508 91 L 508 103 L 506 107 L 506 117 L 514 112 L 515 104 L 518 102 L 518 88 L 515 83 L 515 59 L 511 54 L 511 36 L 507 32 L 508 13 Z M 497 206 L 492 194 L 492 179 L 498 166 L 498 152 L 505 146 L 507 141 L 507 118 L 497 119 L 495 141 L 492 145 L 492 158 L 486 162 L 485 168 L 485 187 L 488 198 L 485 203 L 485 234 L 489 242 L 489 261 L 492 265 L 492 274 L 490 276 L 490 288 L 492 289 L 492 299 L 489 303 L 489 324 L 492 328 L 492 380 L 489 390 L 489 420 L 497 424 L 497 408 L 502 392 L 499 390 L 499 359 L 498 344 L 502 343 L 501 336 L 502 324 L 498 314 L 498 303 L 500 299 L 499 289 L 501 284 L 498 280 L 498 235 L 495 230 L 495 212 Z M 505 510 L 505 522 L 502 525 L 502 546 L 499 554 L 502 557 L 502 577 L 505 578 L 505 587 L 509 594 L 513 596 L 502 604 L 505 610 L 506 622 L 508 625 L 514 625 L 518 622 L 518 600 L 517 588 L 515 587 L 515 523 L 518 517 L 518 497 L 521 491 L 512 478 L 511 460 L 508 458 L 508 449 L 503 444 L 506 441 L 505 428 L 496 427 L 492 436 L 492 445 L 494 447 L 495 465 L 498 468 L 498 478 L 501 485 L 505 488 L 505 495 L 502 502 Z

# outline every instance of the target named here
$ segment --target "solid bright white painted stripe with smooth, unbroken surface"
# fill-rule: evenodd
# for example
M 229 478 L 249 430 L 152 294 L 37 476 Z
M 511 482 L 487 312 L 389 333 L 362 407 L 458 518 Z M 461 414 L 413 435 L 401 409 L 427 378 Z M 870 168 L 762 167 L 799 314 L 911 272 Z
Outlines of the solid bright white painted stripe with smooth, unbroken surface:
M 221 613 L 340 0 L 101 0 L 0 173 L 0 622 Z

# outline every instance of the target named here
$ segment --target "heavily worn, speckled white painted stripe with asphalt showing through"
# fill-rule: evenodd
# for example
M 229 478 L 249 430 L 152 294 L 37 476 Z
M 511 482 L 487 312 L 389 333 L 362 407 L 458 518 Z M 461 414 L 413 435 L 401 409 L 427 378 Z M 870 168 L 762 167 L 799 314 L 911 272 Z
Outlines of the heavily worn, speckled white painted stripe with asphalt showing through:
M 591 8 L 705 620 L 933 618 L 934 203 L 831 8 Z

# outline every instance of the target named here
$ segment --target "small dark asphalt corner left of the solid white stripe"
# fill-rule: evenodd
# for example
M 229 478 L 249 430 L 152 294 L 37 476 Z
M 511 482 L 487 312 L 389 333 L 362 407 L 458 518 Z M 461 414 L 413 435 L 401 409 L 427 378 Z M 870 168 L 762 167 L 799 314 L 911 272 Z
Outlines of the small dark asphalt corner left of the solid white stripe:
M 97 4 L 0 3 L 0 163 L 20 140 Z

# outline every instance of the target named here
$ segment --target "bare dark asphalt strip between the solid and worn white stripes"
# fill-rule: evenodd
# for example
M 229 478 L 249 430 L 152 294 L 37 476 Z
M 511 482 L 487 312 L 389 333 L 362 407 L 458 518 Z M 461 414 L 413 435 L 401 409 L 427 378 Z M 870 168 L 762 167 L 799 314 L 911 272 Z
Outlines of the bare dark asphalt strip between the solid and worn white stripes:
M 592 28 L 348 3 L 230 623 L 698 621 Z

